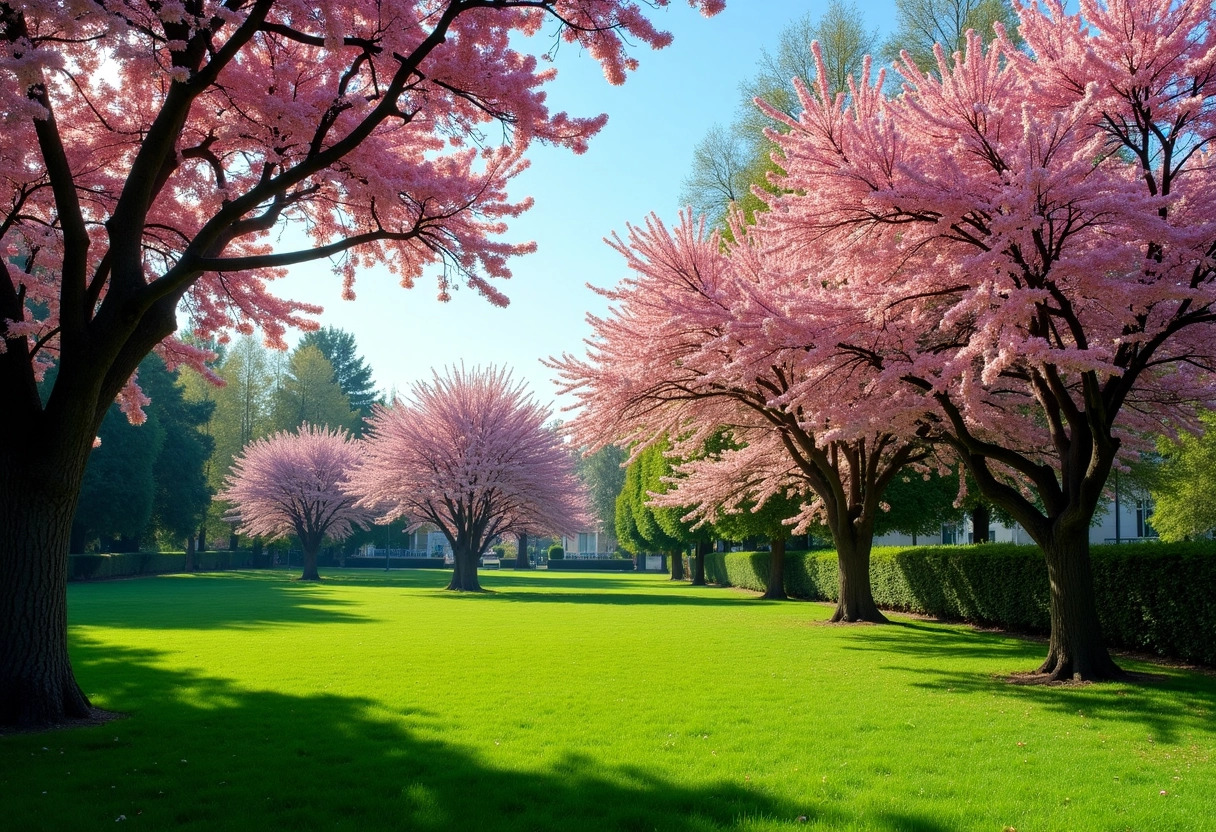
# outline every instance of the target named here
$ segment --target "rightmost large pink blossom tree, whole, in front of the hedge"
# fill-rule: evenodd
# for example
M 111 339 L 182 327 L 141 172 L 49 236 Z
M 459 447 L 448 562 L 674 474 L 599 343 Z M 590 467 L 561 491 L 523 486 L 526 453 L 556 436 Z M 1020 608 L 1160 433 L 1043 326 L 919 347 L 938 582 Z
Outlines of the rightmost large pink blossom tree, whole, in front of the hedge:
M 761 225 L 832 304 L 793 280 L 769 326 L 856 373 L 857 420 L 921 395 L 925 435 L 1045 552 L 1041 678 L 1103 679 L 1088 529 L 1108 474 L 1216 404 L 1216 11 L 1018 9 L 1025 49 L 972 33 L 934 72 L 905 60 L 899 95 L 868 72 L 848 97 L 798 85 Z

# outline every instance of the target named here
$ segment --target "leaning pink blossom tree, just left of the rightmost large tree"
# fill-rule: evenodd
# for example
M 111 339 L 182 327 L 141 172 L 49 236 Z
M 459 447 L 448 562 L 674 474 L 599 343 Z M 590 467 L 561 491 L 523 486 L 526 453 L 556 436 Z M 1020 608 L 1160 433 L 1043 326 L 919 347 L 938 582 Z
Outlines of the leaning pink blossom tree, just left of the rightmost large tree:
M 834 376 L 800 350 L 775 347 L 770 305 L 799 262 L 767 252 L 738 221 L 731 236 L 738 242 L 706 234 L 686 212 L 674 230 L 652 217 L 630 227 L 627 240 L 612 241 L 630 269 L 619 287 L 602 291 L 612 313 L 590 317 L 587 358 L 548 362 L 579 401 L 570 429 L 581 445 L 614 443 L 635 454 L 675 437 L 674 454 L 689 460 L 715 431 L 731 429 L 747 451 L 688 467 L 662 500 L 699 507 L 702 516 L 737 493 L 743 470 L 734 463 L 777 462 L 761 504 L 789 485 L 793 463 L 798 490 L 816 497 L 798 528 L 822 518 L 835 541 L 833 620 L 885 622 L 869 585 L 869 551 L 886 484 L 929 456 L 908 421 L 918 411 L 893 399 L 861 422 L 850 411 L 861 394 L 851 373 Z

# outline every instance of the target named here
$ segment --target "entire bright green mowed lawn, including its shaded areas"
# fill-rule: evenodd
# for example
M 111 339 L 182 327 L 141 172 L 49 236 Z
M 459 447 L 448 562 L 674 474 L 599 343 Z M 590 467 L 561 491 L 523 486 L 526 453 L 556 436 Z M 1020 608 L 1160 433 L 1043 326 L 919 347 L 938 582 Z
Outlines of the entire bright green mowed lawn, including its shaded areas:
M 73 585 L 106 725 L 0 737 L 27 830 L 1216 830 L 1216 678 L 662 575 Z M 116 826 L 117 822 L 117 826 Z

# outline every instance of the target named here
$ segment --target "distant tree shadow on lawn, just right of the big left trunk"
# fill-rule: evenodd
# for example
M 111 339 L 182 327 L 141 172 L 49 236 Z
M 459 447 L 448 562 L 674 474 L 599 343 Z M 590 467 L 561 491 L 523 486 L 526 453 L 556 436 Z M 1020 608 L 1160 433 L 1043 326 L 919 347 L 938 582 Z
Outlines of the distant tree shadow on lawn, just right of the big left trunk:
M 186 617 L 206 598 L 203 618 Z M 325 584 L 291 580 L 281 572 L 224 572 L 106 584 L 72 584 L 69 617 L 90 625 L 131 629 L 260 629 L 274 625 L 375 620 L 360 605 L 326 592 Z

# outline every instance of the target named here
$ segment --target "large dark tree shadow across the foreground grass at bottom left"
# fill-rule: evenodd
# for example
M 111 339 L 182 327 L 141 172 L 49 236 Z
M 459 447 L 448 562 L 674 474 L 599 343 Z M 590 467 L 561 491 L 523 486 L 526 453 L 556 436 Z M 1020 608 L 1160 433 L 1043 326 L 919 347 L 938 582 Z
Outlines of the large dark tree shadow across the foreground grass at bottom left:
M 125 819 L 142 828 L 208 832 L 708 832 L 761 819 L 793 823 L 807 814 L 844 820 L 742 782 L 687 785 L 590 757 L 565 755 L 536 770 L 497 768 L 492 747 L 433 738 L 443 725 L 418 703 L 389 712 L 361 698 L 242 690 L 157 667 L 157 651 L 88 640 L 77 640 L 74 653 L 85 685 L 105 690 L 106 704 L 129 718 L 0 741 L 0 760 L 11 758 L 2 775 L 10 828 L 98 828 Z

